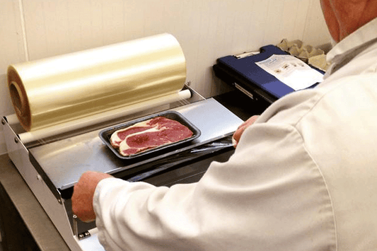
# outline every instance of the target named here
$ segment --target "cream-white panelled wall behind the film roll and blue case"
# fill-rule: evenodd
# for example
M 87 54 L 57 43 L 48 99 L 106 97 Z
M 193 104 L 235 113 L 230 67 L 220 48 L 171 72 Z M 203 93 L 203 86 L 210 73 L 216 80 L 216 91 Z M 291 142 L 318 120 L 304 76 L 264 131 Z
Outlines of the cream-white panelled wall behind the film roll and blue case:
M 158 33 L 180 41 L 187 81 L 206 97 L 224 91 L 211 70 L 218 57 L 282 38 L 329 41 L 319 0 L 0 0 L 0 115 L 13 113 L 9 64 Z

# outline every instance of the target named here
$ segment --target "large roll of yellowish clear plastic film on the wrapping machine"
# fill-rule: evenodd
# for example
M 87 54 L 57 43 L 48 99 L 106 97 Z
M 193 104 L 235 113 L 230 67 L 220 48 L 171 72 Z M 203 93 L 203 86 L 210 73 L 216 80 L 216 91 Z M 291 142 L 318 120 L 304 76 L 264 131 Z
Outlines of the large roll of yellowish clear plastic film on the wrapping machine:
M 185 56 L 169 34 L 8 67 L 13 107 L 26 131 L 177 95 L 185 78 Z

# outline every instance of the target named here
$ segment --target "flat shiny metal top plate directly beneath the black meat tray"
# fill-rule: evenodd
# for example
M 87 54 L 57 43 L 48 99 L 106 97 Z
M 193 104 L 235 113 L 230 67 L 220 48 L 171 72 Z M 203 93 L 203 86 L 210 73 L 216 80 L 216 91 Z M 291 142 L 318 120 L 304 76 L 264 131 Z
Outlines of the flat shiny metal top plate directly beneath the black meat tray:
M 236 115 L 233 115 L 214 99 L 177 107 L 173 110 L 180 112 L 197 126 L 202 134 L 188 146 L 185 145 L 163 155 L 141 158 L 137 162 L 121 160 L 109 151 L 108 147 L 100 140 L 98 137 L 99 129 L 50 144 L 36 146 L 30 148 L 29 151 L 46 175 L 50 177 L 54 186 L 59 189 L 66 189 L 74 185 L 86 170 L 113 174 L 124 169 L 134 168 L 137 165 L 227 136 L 241 123 Z

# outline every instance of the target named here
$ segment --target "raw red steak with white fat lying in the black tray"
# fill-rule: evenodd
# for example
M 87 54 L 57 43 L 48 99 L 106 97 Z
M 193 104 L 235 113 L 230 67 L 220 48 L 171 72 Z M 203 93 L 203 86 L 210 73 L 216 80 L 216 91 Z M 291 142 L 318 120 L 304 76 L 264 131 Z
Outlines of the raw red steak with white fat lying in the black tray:
M 122 156 L 130 156 L 190 138 L 192 134 L 190 129 L 178 121 L 166 117 L 154 117 L 115 131 L 110 137 L 110 143 Z

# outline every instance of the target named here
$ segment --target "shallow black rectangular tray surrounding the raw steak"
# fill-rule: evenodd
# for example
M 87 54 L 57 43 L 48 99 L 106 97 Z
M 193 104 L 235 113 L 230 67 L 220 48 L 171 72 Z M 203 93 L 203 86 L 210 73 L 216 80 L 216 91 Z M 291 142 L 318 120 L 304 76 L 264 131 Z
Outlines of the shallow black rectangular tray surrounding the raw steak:
M 135 153 L 135 154 L 132 154 L 130 156 L 122 156 L 117 149 L 115 149 L 111 146 L 110 137 L 111 137 L 112 133 L 114 133 L 115 131 L 117 131 L 119 129 L 130 127 L 133 124 L 142 122 L 144 120 L 152 119 L 153 117 L 166 117 L 168 119 L 173 119 L 175 121 L 178 121 L 181 124 L 183 124 L 184 126 L 188 127 L 193 134 L 190 138 L 182 139 L 181 141 L 173 142 L 173 143 L 162 145 L 162 146 L 157 146 L 155 148 L 151 148 L 151 149 L 148 149 L 146 151 L 142 151 L 140 153 Z M 109 127 L 107 129 L 103 129 L 102 131 L 100 131 L 99 136 L 100 136 L 100 139 L 102 139 L 102 141 L 106 144 L 106 146 L 108 146 L 108 148 L 110 148 L 110 150 L 113 153 L 115 153 L 115 155 L 118 158 L 129 160 L 129 159 L 133 159 L 133 158 L 138 158 L 140 156 L 146 156 L 146 155 L 151 154 L 151 153 L 156 153 L 158 151 L 166 150 L 167 148 L 173 148 L 175 146 L 185 144 L 189 141 L 193 141 L 194 139 L 197 139 L 200 136 L 200 134 L 201 134 L 200 130 L 197 127 L 195 127 L 195 125 L 192 124 L 190 121 L 188 121 L 185 117 L 183 117 L 179 112 L 166 111 L 166 112 L 159 112 L 159 113 L 149 115 L 149 116 L 146 116 L 146 117 L 141 117 L 139 119 L 134 119 L 134 120 L 127 122 L 127 123 L 124 123 L 124 124 L 117 124 L 114 127 Z

